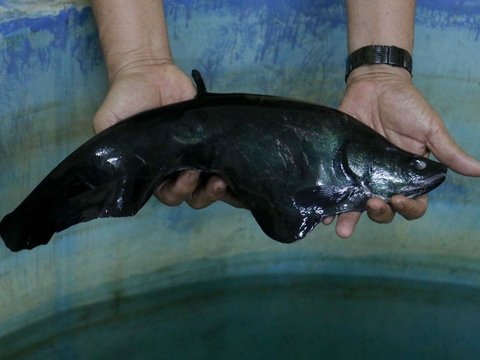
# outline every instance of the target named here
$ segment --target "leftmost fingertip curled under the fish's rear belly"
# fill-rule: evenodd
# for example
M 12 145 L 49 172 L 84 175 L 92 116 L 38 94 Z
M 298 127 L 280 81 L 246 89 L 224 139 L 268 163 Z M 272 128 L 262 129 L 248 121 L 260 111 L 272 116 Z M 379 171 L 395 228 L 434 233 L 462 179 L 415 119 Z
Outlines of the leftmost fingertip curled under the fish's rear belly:
M 200 173 L 195 170 L 186 170 L 178 175 L 175 180 L 169 180 L 162 184 L 156 191 L 155 196 L 168 206 L 180 205 L 189 200 L 199 185 Z

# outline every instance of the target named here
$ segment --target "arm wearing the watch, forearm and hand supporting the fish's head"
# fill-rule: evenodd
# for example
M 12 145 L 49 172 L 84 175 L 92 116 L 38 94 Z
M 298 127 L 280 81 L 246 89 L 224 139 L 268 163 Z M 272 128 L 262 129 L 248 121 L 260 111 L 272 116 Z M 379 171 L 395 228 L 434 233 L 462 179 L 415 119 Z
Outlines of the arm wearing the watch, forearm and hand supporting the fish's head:
M 367 45 L 393 45 L 413 50 L 414 0 L 347 0 L 349 53 Z M 395 145 L 411 152 L 432 152 L 452 170 L 480 176 L 480 163 L 465 154 L 449 136 L 440 116 L 412 83 L 408 71 L 390 65 L 361 66 L 347 79 L 340 109 L 355 116 Z M 390 205 L 372 198 L 368 216 L 377 222 L 390 222 L 395 212 L 407 219 L 421 217 L 427 197 L 392 198 Z M 352 234 L 360 213 L 339 216 L 337 233 Z M 332 222 L 329 218 L 327 223 Z

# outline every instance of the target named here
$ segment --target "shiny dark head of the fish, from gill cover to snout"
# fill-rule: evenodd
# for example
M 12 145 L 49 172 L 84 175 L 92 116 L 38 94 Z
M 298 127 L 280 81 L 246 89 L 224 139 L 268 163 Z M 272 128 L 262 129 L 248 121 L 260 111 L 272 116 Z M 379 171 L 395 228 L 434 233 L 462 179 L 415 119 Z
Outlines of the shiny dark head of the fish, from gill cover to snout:
M 447 168 L 437 161 L 404 151 L 387 141 L 352 143 L 346 146 L 346 164 L 369 196 L 388 201 L 394 195 L 413 198 L 425 194 L 444 180 Z

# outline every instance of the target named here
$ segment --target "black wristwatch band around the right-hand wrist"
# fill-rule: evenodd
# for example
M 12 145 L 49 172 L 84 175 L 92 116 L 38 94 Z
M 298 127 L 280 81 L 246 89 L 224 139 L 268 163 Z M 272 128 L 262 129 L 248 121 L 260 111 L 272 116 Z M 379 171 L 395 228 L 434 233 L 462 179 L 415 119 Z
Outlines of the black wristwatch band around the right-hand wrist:
M 369 45 L 352 52 L 347 58 L 345 82 L 348 75 L 362 65 L 386 64 L 407 70 L 412 75 L 412 56 L 396 46 Z

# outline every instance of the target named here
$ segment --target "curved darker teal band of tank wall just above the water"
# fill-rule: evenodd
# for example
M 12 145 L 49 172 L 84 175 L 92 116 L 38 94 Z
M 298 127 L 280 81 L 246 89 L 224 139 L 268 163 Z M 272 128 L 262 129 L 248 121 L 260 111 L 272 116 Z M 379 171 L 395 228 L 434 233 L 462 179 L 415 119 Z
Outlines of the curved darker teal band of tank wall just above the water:
M 221 259 L 198 259 L 177 263 L 158 271 L 132 275 L 127 279 L 102 284 L 57 299 L 12 317 L 2 324 L 0 339 L 57 313 L 135 297 L 170 288 L 227 279 L 282 276 L 341 276 L 369 278 L 378 281 L 431 284 L 480 288 L 479 264 L 466 259 L 446 264 L 443 257 L 434 256 L 360 256 L 336 257 L 321 254 L 242 254 Z M 449 259 L 450 261 L 452 259 Z

